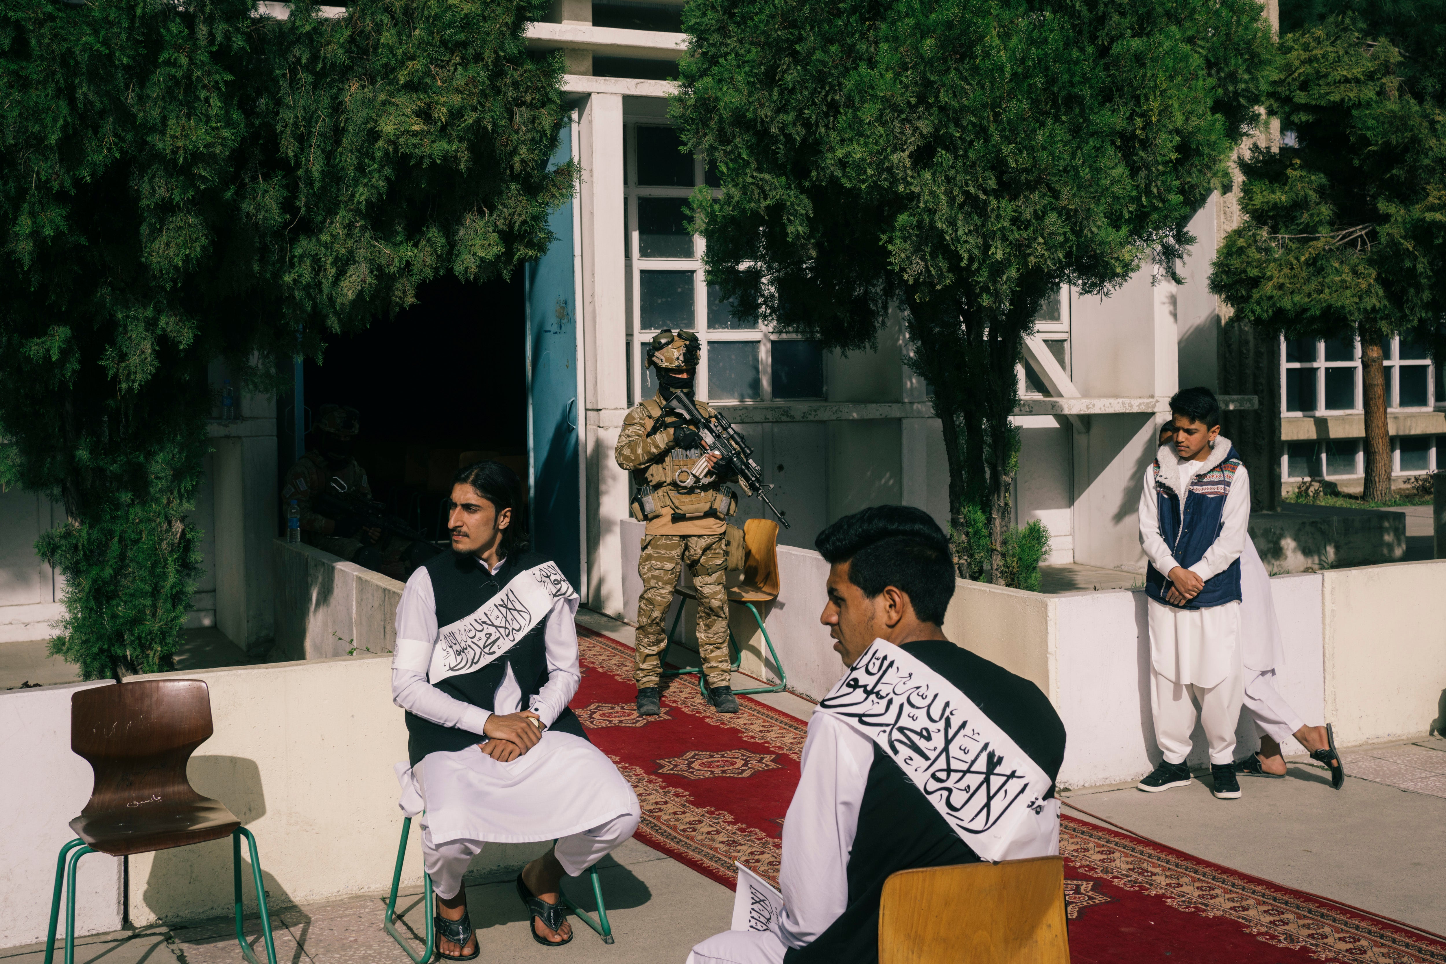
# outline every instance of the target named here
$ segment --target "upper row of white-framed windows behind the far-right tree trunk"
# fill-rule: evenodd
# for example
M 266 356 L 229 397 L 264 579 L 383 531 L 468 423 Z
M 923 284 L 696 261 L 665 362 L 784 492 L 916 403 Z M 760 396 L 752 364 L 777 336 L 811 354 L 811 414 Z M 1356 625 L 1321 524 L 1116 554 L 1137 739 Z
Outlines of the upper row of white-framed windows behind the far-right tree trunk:
M 1355 338 L 1287 338 L 1281 386 L 1285 415 L 1359 412 L 1361 344 Z M 1385 405 L 1388 409 L 1436 406 L 1432 360 L 1410 338 L 1385 344 Z

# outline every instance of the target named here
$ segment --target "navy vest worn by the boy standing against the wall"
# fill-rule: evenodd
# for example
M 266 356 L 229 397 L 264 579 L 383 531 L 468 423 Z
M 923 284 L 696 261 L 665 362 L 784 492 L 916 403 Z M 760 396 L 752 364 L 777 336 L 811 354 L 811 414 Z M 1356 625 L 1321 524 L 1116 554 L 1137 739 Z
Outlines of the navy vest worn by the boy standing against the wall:
M 1220 538 L 1225 526 L 1225 499 L 1235 483 L 1235 470 L 1241 467 L 1241 454 L 1231 447 L 1220 464 L 1196 473 L 1186 490 L 1184 513 L 1180 512 L 1180 496 L 1161 477 L 1160 458 L 1155 457 L 1155 506 L 1160 515 L 1160 538 L 1170 546 L 1174 561 L 1189 569 Z M 1249 536 L 1246 536 L 1249 538 Z M 1145 594 L 1161 606 L 1173 608 L 1200 610 L 1241 600 L 1241 561 L 1236 558 L 1205 581 L 1205 588 L 1186 603 L 1174 606 L 1165 598 L 1168 591 L 1165 574 L 1154 562 L 1145 569 Z

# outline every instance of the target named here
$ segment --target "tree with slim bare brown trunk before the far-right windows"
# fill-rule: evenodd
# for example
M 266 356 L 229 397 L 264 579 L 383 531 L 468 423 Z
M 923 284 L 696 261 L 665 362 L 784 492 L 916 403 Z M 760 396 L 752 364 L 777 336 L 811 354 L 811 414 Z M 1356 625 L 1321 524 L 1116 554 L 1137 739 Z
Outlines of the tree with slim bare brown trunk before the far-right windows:
M 1281 39 L 1265 104 L 1287 132 L 1242 160 L 1248 220 L 1225 238 L 1210 289 L 1287 337 L 1359 338 L 1365 497 L 1391 497 L 1382 340 L 1430 340 L 1446 314 L 1446 142 L 1400 51 L 1352 14 Z M 1439 55 L 1439 52 L 1437 52 Z M 1439 59 L 1439 56 L 1437 56 Z M 1433 90 L 1429 71 L 1417 71 Z

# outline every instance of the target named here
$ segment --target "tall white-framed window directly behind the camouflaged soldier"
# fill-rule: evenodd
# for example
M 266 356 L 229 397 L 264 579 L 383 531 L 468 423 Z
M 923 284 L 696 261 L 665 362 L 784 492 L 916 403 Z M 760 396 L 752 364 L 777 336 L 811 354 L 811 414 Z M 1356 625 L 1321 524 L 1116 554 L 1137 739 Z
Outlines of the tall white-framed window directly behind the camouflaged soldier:
M 643 348 L 662 328 L 687 330 L 703 343 L 697 389 L 710 402 L 824 397 L 820 343 L 771 332 L 736 312 L 703 276 L 703 238 L 688 228 L 688 195 L 716 188 L 700 158 L 680 150 L 672 127 L 636 120 L 623 130 L 628 259 L 628 399 L 656 392 Z

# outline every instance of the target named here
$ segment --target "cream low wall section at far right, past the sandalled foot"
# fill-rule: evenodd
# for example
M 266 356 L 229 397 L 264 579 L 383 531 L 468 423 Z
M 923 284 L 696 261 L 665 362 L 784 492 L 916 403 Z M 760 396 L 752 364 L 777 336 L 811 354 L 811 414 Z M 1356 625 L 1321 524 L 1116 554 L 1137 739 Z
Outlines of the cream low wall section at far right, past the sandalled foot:
M 1446 559 L 1322 580 L 1325 708 L 1336 739 L 1426 736 L 1446 698 Z

